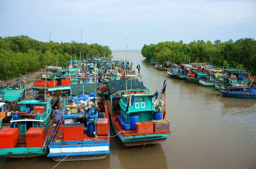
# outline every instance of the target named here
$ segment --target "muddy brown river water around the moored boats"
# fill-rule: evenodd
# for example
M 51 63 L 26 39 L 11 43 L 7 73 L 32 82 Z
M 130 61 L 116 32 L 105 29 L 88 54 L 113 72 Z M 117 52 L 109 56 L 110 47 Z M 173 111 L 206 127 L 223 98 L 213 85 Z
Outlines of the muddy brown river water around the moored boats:
M 125 54 L 113 51 L 115 60 Z M 140 51 L 126 56 L 136 72 L 140 64 L 151 93 L 161 89 L 166 71 L 154 69 Z M 225 98 L 214 88 L 186 80 L 167 78 L 167 82 L 166 119 L 171 121 L 172 135 L 164 143 L 125 147 L 113 137 L 105 159 L 62 162 L 55 169 L 256 169 L 256 100 Z M 3 169 L 52 169 L 58 163 L 46 156 L 0 161 Z

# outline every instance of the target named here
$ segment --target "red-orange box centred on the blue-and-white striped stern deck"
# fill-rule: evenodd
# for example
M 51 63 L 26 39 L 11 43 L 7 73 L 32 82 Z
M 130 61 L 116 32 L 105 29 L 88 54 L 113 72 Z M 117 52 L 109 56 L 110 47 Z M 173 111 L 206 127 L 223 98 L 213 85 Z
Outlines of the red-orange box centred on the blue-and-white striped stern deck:
M 64 141 L 80 141 L 84 138 L 84 124 L 64 124 L 63 127 Z

